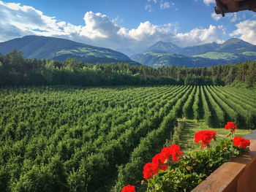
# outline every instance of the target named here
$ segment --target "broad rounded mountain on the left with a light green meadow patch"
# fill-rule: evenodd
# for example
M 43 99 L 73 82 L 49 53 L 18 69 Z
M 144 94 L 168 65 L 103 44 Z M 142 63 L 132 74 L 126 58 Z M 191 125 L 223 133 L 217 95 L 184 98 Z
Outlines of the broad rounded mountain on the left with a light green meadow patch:
M 103 47 L 94 47 L 68 39 L 55 37 L 26 36 L 0 43 L 0 53 L 10 53 L 12 50 L 22 50 L 26 58 L 58 59 L 77 58 L 83 62 L 102 63 L 109 62 L 136 62 L 131 61 L 127 55 Z

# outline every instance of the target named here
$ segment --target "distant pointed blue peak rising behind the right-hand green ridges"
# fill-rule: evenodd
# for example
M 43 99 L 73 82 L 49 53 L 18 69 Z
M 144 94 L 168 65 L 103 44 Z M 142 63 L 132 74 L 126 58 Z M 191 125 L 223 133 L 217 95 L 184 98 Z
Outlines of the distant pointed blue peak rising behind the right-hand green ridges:
M 156 44 L 149 47 L 146 50 L 146 52 L 153 51 L 154 53 L 176 53 L 178 50 L 181 50 L 181 47 L 178 47 L 172 42 L 159 41 Z

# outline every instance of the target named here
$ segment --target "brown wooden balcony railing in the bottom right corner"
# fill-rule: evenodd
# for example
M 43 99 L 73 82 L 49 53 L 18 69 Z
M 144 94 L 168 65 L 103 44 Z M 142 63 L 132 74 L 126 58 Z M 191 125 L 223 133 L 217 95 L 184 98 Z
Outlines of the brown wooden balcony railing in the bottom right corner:
M 192 192 L 256 192 L 256 130 L 244 138 L 250 151 L 222 164 Z

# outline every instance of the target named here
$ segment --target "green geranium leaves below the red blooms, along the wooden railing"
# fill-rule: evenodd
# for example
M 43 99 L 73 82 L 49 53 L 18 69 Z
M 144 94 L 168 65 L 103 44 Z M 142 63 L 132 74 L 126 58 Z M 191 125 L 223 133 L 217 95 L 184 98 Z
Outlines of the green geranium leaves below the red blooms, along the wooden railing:
M 219 142 L 215 147 L 189 153 L 165 171 L 159 171 L 148 179 L 147 191 L 191 191 L 211 172 L 242 151 L 232 141 Z

